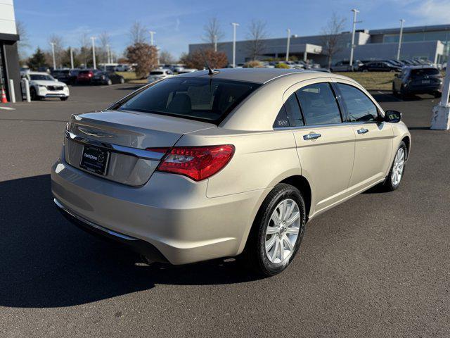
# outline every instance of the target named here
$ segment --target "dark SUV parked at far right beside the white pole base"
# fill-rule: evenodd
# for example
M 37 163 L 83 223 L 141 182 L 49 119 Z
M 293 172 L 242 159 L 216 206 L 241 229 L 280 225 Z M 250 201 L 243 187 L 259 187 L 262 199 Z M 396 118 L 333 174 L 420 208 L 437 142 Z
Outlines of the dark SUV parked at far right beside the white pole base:
M 392 81 L 392 94 L 406 98 L 410 94 L 432 94 L 442 96 L 442 75 L 431 66 L 404 67 Z

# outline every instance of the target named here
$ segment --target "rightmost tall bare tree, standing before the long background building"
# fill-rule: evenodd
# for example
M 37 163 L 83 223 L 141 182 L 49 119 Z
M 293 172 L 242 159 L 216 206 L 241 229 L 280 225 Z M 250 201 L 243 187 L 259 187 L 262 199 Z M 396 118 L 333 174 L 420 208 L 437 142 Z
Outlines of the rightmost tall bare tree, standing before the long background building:
M 333 55 L 342 51 L 344 44 L 342 43 L 341 32 L 345 27 L 345 18 L 340 18 L 336 13 L 331 15 L 326 27 L 322 29 L 321 43 L 323 46 L 323 54 L 326 54 L 328 59 L 328 68 L 331 67 Z

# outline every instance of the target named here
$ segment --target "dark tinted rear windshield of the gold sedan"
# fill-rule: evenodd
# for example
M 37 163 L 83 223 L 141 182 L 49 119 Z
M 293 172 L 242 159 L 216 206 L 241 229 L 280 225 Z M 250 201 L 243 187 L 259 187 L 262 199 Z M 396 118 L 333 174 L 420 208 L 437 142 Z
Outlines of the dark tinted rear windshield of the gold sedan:
M 153 84 L 114 108 L 219 123 L 260 85 L 231 80 L 172 77 Z

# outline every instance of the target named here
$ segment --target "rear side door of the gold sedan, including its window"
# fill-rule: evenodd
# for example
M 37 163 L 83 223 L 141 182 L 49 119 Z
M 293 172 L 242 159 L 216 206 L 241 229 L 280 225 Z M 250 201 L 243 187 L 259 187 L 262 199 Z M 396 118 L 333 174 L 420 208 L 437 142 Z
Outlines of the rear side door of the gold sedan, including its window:
M 285 96 L 290 123 L 295 125 L 302 175 L 312 189 L 311 213 L 323 211 L 346 196 L 354 161 L 354 132 L 342 123 L 330 82 L 300 82 Z

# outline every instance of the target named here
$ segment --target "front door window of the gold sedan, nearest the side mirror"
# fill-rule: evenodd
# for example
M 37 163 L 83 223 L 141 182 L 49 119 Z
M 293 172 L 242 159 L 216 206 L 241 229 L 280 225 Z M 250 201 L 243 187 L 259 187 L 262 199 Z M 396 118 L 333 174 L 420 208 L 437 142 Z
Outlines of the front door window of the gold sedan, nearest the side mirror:
M 378 120 L 378 109 L 361 90 L 348 84 L 338 83 L 342 101 L 347 108 L 349 122 L 371 122 Z

